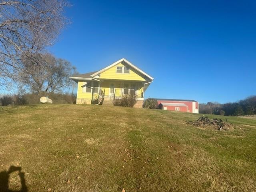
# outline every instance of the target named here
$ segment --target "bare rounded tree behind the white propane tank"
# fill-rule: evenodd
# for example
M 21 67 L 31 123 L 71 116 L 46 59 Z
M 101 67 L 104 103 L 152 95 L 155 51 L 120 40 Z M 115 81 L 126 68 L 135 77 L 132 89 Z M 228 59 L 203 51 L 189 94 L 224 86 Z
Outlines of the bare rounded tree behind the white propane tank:
M 69 76 L 76 73 L 76 68 L 64 59 L 56 59 L 51 54 L 24 54 L 24 70 L 19 72 L 19 81 L 30 92 L 61 92 L 72 85 Z

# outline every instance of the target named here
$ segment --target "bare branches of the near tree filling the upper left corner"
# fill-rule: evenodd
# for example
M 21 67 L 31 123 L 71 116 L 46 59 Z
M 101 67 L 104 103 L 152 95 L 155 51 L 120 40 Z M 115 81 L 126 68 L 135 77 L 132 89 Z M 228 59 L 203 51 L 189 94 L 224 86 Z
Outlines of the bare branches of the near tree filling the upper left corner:
M 21 55 L 44 52 L 68 20 L 65 0 L 0 0 L 0 78 L 16 79 L 26 70 Z

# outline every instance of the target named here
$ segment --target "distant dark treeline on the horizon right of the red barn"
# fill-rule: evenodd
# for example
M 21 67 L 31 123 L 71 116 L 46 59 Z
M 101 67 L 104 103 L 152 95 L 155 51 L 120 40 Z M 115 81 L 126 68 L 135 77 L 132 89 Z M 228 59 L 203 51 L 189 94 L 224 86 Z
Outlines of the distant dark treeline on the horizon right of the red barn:
M 249 96 L 244 100 L 234 103 L 212 103 L 199 104 L 199 112 L 204 114 L 216 114 L 226 116 L 241 116 L 256 114 L 256 96 Z

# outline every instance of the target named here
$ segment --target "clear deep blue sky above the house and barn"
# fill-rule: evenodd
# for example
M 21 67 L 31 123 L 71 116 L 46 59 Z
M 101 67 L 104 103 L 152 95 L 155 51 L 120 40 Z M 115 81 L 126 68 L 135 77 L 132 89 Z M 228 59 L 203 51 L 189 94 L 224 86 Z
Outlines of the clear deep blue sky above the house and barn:
M 256 1 L 70 1 L 50 48 L 80 73 L 126 58 L 146 97 L 235 102 L 256 94 Z

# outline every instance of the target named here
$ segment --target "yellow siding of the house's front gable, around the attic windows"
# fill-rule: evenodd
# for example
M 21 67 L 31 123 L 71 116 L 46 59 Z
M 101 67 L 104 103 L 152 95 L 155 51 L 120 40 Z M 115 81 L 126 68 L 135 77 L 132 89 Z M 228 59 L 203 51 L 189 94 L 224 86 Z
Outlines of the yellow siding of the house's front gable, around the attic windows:
M 138 73 L 136 70 L 130 67 L 130 73 L 129 74 L 120 74 L 116 73 L 116 67 L 117 66 L 127 66 L 129 65 L 119 63 L 112 68 L 109 68 L 108 70 L 102 72 L 100 74 L 101 79 L 116 79 L 116 80 L 134 80 L 134 81 L 146 81 L 143 78 L 143 75 Z

